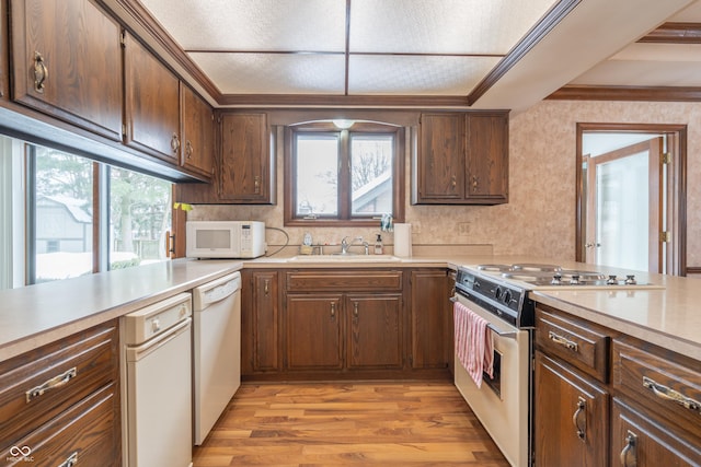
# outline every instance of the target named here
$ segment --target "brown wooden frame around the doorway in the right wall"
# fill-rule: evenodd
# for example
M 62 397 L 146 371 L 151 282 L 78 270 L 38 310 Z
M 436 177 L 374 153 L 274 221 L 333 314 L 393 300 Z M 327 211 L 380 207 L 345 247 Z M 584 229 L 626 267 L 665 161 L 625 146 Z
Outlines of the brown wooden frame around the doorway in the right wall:
M 586 189 L 582 174 L 584 155 L 582 137 L 585 132 L 641 132 L 651 135 L 668 135 L 677 154 L 668 171 L 667 211 L 669 213 L 667 230 L 671 232 L 670 254 L 666 257 L 668 275 L 687 275 L 687 126 L 655 124 L 576 124 L 576 197 L 575 197 L 575 259 L 586 260 Z M 673 151 L 674 153 L 674 151 Z

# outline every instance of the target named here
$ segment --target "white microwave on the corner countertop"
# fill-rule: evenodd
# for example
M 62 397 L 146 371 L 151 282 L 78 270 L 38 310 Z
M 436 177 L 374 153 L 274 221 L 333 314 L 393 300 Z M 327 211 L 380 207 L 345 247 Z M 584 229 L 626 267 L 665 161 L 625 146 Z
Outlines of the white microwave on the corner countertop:
M 265 222 L 188 221 L 188 258 L 257 258 L 265 254 Z

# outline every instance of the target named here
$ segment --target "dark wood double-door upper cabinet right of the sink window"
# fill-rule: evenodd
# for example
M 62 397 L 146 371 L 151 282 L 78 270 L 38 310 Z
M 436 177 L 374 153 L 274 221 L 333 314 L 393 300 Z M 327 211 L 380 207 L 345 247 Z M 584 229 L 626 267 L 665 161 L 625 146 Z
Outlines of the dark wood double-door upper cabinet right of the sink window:
M 414 205 L 508 201 L 508 114 L 422 114 Z

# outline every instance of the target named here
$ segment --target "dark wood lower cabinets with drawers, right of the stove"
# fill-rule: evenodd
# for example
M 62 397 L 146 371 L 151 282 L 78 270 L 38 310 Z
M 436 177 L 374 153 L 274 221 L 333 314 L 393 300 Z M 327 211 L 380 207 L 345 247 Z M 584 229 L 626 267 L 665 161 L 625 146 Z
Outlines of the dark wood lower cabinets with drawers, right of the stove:
M 536 308 L 535 465 L 701 466 L 698 361 Z

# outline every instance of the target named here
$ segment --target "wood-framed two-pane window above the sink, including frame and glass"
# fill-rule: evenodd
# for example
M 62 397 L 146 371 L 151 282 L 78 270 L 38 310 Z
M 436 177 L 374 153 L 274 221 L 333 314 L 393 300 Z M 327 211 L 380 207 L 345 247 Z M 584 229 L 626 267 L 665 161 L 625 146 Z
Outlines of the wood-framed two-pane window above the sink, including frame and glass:
M 286 225 L 376 225 L 382 214 L 403 220 L 403 128 L 313 122 L 289 127 L 286 138 Z

